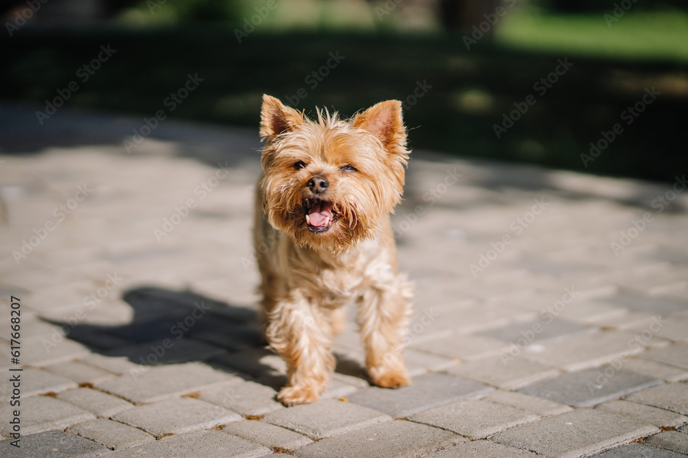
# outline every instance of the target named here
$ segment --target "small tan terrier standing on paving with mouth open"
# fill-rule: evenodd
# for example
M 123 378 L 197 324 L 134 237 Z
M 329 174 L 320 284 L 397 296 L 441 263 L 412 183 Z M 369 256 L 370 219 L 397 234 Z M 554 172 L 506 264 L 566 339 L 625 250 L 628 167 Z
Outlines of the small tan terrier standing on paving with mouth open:
M 372 381 L 411 382 L 401 354 L 411 284 L 397 273 L 389 219 L 409 159 L 401 103 L 380 102 L 348 122 L 317 115 L 263 96 L 254 243 L 263 253 L 261 321 L 287 363 L 277 398 L 288 406 L 327 387 L 334 334 L 353 299 Z

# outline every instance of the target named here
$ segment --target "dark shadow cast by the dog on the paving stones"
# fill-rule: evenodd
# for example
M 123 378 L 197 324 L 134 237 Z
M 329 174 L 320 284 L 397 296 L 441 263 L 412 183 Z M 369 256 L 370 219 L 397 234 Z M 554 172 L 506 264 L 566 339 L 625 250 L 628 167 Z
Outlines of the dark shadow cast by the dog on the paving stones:
M 201 362 L 279 390 L 287 383 L 283 360 L 268 347 L 257 311 L 190 290 L 154 286 L 127 290 L 133 317 L 108 326 L 44 319 L 96 354 L 127 358 L 146 367 Z M 340 374 L 367 378 L 355 360 L 335 354 Z

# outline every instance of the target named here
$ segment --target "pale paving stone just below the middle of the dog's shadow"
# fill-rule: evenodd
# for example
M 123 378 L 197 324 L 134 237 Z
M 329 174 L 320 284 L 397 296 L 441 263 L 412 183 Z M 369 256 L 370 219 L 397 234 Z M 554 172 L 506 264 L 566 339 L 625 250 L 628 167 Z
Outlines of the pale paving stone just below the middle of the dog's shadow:
M 242 379 L 223 374 L 202 363 L 149 367 L 134 374 L 123 374 L 96 383 L 98 389 L 116 394 L 131 402 L 156 402 L 184 394 L 232 385 Z

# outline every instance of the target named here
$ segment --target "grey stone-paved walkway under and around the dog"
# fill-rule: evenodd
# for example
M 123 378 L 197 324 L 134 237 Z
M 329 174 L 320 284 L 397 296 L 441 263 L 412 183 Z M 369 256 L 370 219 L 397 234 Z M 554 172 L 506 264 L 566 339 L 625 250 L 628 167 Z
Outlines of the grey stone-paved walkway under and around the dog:
M 369 386 L 351 325 L 323 399 L 286 409 L 254 323 L 256 132 L 166 120 L 127 154 L 142 119 L 0 124 L 3 457 L 688 455 L 688 171 L 414 151 L 413 385 Z

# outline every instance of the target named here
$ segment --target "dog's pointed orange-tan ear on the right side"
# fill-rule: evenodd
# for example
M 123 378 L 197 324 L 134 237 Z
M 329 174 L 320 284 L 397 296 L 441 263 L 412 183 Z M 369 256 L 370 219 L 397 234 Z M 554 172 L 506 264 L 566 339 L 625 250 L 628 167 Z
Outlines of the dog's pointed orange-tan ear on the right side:
M 352 125 L 374 134 L 389 152 L 407 154 L 406 128 L 398 100 L 386 100 L 358 113 L 352 119 Z

